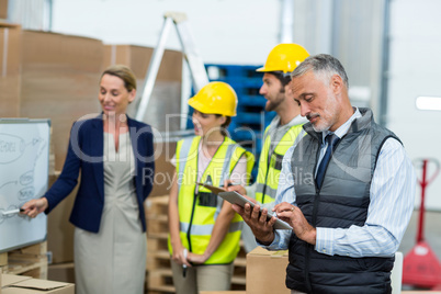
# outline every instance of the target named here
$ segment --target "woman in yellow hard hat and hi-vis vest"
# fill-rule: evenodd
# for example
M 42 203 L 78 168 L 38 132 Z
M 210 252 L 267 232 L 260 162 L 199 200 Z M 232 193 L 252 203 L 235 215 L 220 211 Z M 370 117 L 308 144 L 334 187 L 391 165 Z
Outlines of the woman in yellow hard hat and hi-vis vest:
M 229 84 L 210 82 L 189 105 L 195 136 L 178 142 L 168 211 L 173 284 L 178 294 L 228 291 L 244 220 L 230 203 L 197 183 L 248 184 L 255 158 L 227 136 L 237 106 Z

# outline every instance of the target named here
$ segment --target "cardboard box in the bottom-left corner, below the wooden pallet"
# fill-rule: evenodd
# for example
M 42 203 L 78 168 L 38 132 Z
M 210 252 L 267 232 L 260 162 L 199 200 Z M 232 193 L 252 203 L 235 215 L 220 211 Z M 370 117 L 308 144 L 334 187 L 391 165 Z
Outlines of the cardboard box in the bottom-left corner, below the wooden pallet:
M 75 284 L 2 274 L 1 294 L 75 294 Z

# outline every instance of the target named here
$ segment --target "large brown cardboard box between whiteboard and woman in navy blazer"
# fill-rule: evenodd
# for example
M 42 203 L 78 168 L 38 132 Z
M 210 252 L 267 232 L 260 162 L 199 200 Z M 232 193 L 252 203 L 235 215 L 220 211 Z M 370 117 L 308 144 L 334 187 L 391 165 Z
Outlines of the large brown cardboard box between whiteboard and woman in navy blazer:
M 99 39 L 23 31 L 20 116 L 50 118 L 55 169 L 61 170 L 72 123 L 98 114 L 103 45 Z

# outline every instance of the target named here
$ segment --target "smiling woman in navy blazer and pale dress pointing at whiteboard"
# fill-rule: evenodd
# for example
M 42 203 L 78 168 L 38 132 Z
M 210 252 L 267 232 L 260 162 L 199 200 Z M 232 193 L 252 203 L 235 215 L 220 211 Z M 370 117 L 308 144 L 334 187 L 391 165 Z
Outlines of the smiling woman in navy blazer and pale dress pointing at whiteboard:
M 144 293 L 144 201 L 152 188 L 154 146 L 149 125 L 126 115 L 136 79 L 112 66 L 100 80 L 102 114 L 77 121 L 59 179 L 23 214 L 49 213 L 81 182 L 70 215 L 75 229 L 77 293 Z

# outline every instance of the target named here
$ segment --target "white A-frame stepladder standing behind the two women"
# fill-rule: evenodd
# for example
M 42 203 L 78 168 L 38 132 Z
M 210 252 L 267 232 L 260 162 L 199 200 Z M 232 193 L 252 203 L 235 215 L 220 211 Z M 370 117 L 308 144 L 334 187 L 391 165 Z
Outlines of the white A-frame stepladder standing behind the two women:
M 156 77 L 158 75 L 159 66 L 162 60 L 167 37 L 173 24 L 177 29 L 179 41 L 181 43 L 184 60 L 186 61 L 191 72 L 194 89 L 199 91 L 202 87 L 208 83 L 208 76 L 206 74 L 204 63 L 202 61 L 196 46 L 194 45 L 193 36 L 191 35 L 189 25 L 186 23 L 186 15 L 180 12 L 167 12 L 165 13 L 163 18 L 165 21 L 162 31 L 147 69 L 143 94 L 136 112 L 136 120 L 138 121 L 143 121 L 146 113 L 148 103 L 150 101 L 150 95 L 154 90 Z

